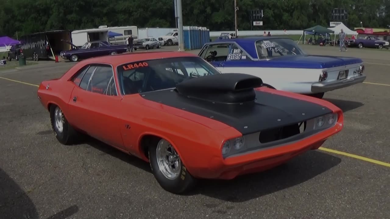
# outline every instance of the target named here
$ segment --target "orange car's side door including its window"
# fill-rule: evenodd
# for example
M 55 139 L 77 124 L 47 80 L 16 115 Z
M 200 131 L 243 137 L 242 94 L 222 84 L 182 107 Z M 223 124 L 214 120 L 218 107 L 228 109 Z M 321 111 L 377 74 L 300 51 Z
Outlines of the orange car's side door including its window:
M 91 64 L 76 74 L 69 111 L 77 127 L 90 136 L 123 148 L 120 124 L 121 95 L 111 65 Z

